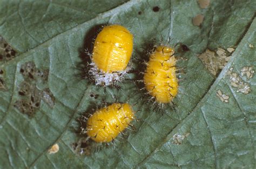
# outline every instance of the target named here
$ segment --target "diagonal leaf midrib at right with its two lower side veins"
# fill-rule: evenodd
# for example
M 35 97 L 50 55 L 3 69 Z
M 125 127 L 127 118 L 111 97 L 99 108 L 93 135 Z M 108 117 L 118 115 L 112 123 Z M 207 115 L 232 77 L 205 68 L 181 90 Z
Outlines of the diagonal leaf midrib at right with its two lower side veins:
M 201 111 L 201 107 L 203 107 L 203 105 L 206 103 L 207 99 L 208 99 L 208 96 L 210 96 L 215 90 L 216 90 L 216 87 L 218 86 L 218 83 L 226 76 L 226 73 L 228 71 L 228 69 L 231 67 L 231 65 L 233 64 L 234 60 L 237 59 L 237 54 L 239 54 L 241 51 L 242 51 L 242 48 L 245 47 L 246 44 L 246 40 L 249 39 L 250 37 L 252 37 L 254 34 L 251 32 L 251 30 L 253 30 L 253 28 L 255 27 L 254 25 L 256 25 L 256 19 L 253 20 L 253 22 L 251 23 L 251 26 L 249 30 L 247 30 L 247 33 L 245 34 L 244 38 L 241 39 L 240 43 L 242 42 L 242 46 L 239 45 L 238 48 L 234 51 L 234 53 L 232 54 L 232 58 L 230 59 L 230 61 L 228 62 L 228 64 L 223 68 L 223 70 L 221 71 L 221 73 L 219 74 L 218 78 L 214 81 L 213 85 L 211 86 L 211 88 L 207 91 L 207 93 L 205 93 L 205 95 L 203 96 L 203 98 L 201 98 L 201 100 L 199 101 L 199 103 L 196 105 L 196 107 L 193 108 L 193 110 L 191 111 L 190 114 L 188 114 L 186 117 L 184 117 L 183 119 L 181 119 L 180 123 L 178 125 L 176 125 L 170 132 L 169 134 L 165 137 L 165 139 L 163 139 L 163 142 L 161 142 L 158 146 L 156 146 L 156 149 L 154 149 L 148 156 L 146 156 L 139 164 L 137 164 L 136 166 L 134 166 L 134 168 L 138 168 L 142 165 L 144 165 L 147 161 L 147 159 L 149 159 L 150 157 L 153 156 L 153 154 L 158 151 L 160 149 L 160 147 L 162 147 L 168 140 L 172 139 L 172 136 L 173 136 L 173 133 L 172 131 L 175 130 L 175 129 L 178 129 L 180 128 L 182 125 L 183 125 L 183 122 L 186 121 L 186 119 L 188 118 L 191 118 L 192 116 L 194 116 L 194 114 L 196 114 L 196 110 L 200 110 Z M 255 31 L 255 30 L 254 30 Z M 229 85 L 230 87 L 230 90 L 231 92 L 233 93 L 232 91 L 232 88 L 231 86 Z M 235 97 L 234 93 L 233 93 L 233 96 L 234 98 L 236 99 L 237 101 L 237 104 L 238 104 L 238 107 L 239 109 L 241 110 L 241 112 L 243 112 L 244 114 L 244 111 L 241 109 L 239 103 L 238 103 L 238 100 L 237 98 Z M 207 119 L 204 115 L 204 112 L 201 111 L 201 113 L 203 114 L 203 117 L 204 117 L 204 120 L 205 120 L 205 123 L 207 124 L 208 126 L 208 123 L 207 123 Z M 245 116 L 246 117 L 246 116 Z M 246 121 L 246 126 L 247 126 L 247 121 Z M 252 144 L 254 145 L 254 142 L 253 142 L 253 137 L 251 135 L 251 131 L 250 129 L 248 128 L 247 126 L 247 129 L 250 133 L 250 136 L 251 136 L 251 142 Z M 217 149 L 215 148 L 215 145 L 214 145 L 214 142 L 213 142 L 213 138 L 212 138 L 212 134 L 211 134 L 211 130 L 210 128 L 208 128 L 209 132 L 210 132 L 210 135 L 211 135 L 211 139 L 212 139 L 212 144 L 213 144 L 213 147 L 214 147 L 214 157 L 215 157 L 215 167 L 220 167 L 218 166 L 218 163 L 217 163 Z M 254 153 L 255 153 L 255 149 L 254 149 Z M 254 166 L 255 166 L 255 161 L 254 161 Z

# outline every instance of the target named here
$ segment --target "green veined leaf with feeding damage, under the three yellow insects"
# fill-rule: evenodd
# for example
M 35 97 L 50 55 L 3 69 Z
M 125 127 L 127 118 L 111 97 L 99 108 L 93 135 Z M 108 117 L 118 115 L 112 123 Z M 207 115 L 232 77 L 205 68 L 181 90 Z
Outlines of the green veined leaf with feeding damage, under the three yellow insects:
M 243 67 L 256 70 L 255 2 L 211 1 L 206 9 L 187 0 L 124 2 L 0 2 L 0 35 L 18 52 L 14 59 L 0 60 L 5 87 L 0 86 L 0 168 L 255 168 L 256 78 L 241 76 L 251 88 L 248 94 L 237 92 L 230 81 Z M 194 26 L 198 14 L 204 20 Z M 81 50 L 102 24 L 127 27 L 137 58 L 143 58 L 142 47 L 161 36 L 190 48 L 180 53 L 187 61 L 178 62 L 186 74 L 174 99 L 177 111 L 150 110 L 138 100 L 143 93 L 131 80 L 121 84 L 121 91 L 104 91 L 79 78 Z M 197 56 L 207 48 L 231 46 L 235 51 L 215 79 Z M 21 71 L 28 63 L 35 64 L 33 79 Z M 19 94 L 24 82 L 28 96 L 38 93 L 33 102 L 39 108 L 30 106 L 32 116 L 17 103 L 32 100 Z M 218 90 L 229 96 L 228 103 Z M 117 138 L 107 149 L 79 156 L 72 146 L 83 137 L 77 118 L 104 99 L 115 102 L 113 95 L 137 111 L 136 131 L 127 130 L 127 138 Z M 56 143 L 59 151 L 49 154 Z

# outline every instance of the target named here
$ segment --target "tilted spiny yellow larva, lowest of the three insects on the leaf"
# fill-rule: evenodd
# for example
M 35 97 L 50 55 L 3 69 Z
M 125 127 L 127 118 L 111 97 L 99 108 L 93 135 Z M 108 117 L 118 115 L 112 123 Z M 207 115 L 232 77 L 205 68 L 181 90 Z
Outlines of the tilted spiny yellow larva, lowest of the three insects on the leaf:
M 87 135 L 95 142 L 111 142 L 133 119 L 134 113 L 129 104 L 113 103 L 89 117 L 86 124 Z

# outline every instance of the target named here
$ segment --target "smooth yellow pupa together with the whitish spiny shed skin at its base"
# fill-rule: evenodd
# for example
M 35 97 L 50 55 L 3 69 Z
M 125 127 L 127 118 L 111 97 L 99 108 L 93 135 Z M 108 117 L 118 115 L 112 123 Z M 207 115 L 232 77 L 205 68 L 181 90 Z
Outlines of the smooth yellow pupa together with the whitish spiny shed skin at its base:
M 127 65 L 133 50 L 133 36 L 124 26 L 104 26 L 92 51 L 92 68 L 96 85 L 110 86 L 122 81 L 130 70 Z

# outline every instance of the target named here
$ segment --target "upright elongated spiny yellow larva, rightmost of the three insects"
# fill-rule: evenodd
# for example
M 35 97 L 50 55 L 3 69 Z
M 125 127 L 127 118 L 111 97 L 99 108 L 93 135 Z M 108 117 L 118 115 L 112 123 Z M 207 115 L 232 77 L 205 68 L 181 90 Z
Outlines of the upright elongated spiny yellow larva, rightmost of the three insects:
M 158 103 L 172 102 L 173 97 L 178 94 L 176 59 L 173 54 L 172 47 L 158 46 L 147 62 L 145 88 Z

